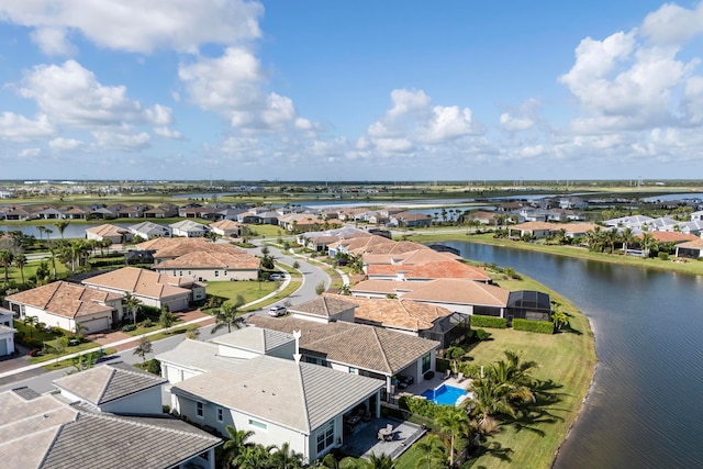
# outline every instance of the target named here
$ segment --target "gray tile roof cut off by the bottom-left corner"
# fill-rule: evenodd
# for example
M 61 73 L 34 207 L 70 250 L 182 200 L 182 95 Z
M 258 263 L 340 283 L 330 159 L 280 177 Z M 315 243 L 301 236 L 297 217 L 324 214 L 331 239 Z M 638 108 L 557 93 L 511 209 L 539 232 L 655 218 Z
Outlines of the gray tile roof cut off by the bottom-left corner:
M 169 468 L 221 443 L 175 418 L 91 413 L 60 397 L 0 393 L 2 467 Z

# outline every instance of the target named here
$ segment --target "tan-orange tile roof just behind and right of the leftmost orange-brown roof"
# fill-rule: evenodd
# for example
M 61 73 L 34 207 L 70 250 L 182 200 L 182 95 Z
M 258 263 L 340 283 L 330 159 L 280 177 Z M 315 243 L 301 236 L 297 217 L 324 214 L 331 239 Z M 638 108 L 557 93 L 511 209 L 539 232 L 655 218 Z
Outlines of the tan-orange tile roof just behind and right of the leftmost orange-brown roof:
M 111 272 L 91 277 L 83 280 L 85 284 L 111 288 L 141 297 L 167 298 L 190 293 L 180 284 L 190 284 L 190 279 L 170 277 L 165 273 L 157 273 L 152 270 L 138 269 L 136 267 L 123 267 Z

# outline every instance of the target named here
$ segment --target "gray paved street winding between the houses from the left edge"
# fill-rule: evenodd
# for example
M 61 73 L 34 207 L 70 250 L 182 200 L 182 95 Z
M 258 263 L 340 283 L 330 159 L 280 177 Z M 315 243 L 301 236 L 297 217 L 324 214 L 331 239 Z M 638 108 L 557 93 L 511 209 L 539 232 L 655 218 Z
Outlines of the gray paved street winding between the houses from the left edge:
M 274 256 L 277 263 L 284 264 L 287 266 L 292 266 L 294 261 L 298 261 L 300 267 L 299 270 L 303 273 L 303 280 L 301 288 L 298 289 L 293 294 L 288 297 L 284 300 L 277 302 L 276 304 L 283 304 L 288 301 L 291 304 L 301 304 L 306 301 L 314 300 L 317 297 L 315 292 L 315 288 L 320 282 L 324 282 L 325 287 L 328 287 L 331 283 L 330 276 L 325 273 L 323 269 L 315 266 L 314 264 L 309 263 L 305 258 L 300 256 L 293 256 L 290 253 L 281 253 L 280 250 L 270 247 L 270 255 Z M 253 254 L 260 253 L 260 246 L 252 249 L 247 249 Z M 264 309 L 254 311 L 249 314 L 266 314 L 269 306 Z M 220 335 L 226 334 L 226 328 L 221 328 L 214 334 L 211 334 L 212 325 L 204 326 L 200 328 L 200 340 L 209 340 L 213 337 L 217 337 Z M 154 353 L 147 358 L 153 357 L 154 355 L 161 354 L 164 351 L 168 351 L 175 348 L 178 344 L 180 344 L 185 338 L 185 334 L 177 334 L 172 337 L 167 337 L 161 340 L 155 342 L 153 345 Z M 105 348 L 110 347 L 110 345 L 105 345 Z M 127 364 L 136 364 L 141 360 L 141 358 L 134 355 L 134 348 L 130 348 L 127 350 L 120 351 L 113 356 L 107 357 L 102 360 L 102 362 L 115 362 L 115 361 L 124 361 Z M 44 393 L 52 391 L 54 387 L 52 382 L 55 379 L 58 379 L 66 375 L 66 371 L 69 369 L 57 370 L 57 371 L 45 371 L 43 368 L 38 368 L 36 370 L 27 371 L 23 375 L 18 375 L 15 378 L 20 378 L 16 381 L 10 382 L 10 379 L 3 379 L 2 381 L 5 384 L 0 387 L 0 392 L 7 391 L 10 389 L 19 388 L 22 386 L 26 386 L 35 390 L 36 392 Z

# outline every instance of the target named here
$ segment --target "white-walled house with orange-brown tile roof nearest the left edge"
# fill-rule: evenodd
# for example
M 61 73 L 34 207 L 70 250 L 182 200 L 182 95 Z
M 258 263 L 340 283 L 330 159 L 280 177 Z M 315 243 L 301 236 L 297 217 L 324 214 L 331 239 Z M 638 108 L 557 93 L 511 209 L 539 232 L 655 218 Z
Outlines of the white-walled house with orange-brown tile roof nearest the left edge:
M 35 316 L 49 327 L 85 332 L 110 330 L 123 317 L 122 294 L 56 281 L 5 297 L 20 319 Z

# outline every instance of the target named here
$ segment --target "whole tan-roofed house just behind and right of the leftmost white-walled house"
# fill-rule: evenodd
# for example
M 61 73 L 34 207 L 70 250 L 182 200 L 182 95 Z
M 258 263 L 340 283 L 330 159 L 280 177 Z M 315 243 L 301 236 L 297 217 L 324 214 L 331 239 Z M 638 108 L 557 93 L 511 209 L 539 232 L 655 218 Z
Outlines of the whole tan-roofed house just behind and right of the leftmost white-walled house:
M 130 293 L 147 306 L 168 306 L 172 312 L 186 310 L 191 301 L 205 298 L 205 286 L 190 277 L 171 277 L 136 267 L 123 267 L 90 277 L 82 283 L 118 293 L 120 298 Z

